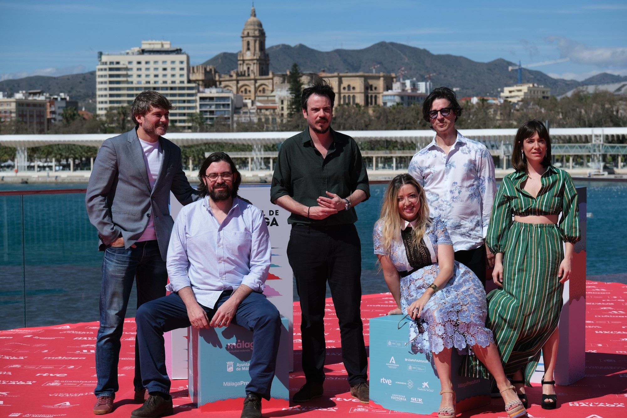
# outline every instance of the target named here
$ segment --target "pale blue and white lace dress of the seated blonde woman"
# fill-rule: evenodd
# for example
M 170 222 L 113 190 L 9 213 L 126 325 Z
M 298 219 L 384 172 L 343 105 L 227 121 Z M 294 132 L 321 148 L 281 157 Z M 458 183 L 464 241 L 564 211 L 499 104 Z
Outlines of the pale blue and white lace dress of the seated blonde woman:
M 411 227 L 410 227 L 411 228 Z M 401 277 L 401 309 L 407 313 L 408 306 L 421 297 L 438 275 L 438 244 L 452 245 L 443 222 L 435 218 L 428 228 L 420 248 L 408 257 L 409 240 L 398 237 L 390 252 L 382 247 L 382 222 L 374 225 L 374 254 L 387 255 Z M 419 332 L 418 323 L 409 326 L 409 343 L 414 352 L 440 353 L 444 348 L 457 348 L 471 353 L 470 347 L 482 347 L 494 342 L 492 331 L 485 327 L 487 304 L 485 291 L 477 276 L 463 264 L 455 262 L 453 277 L 440 291 L 436 292 L 424 306 L 421 318 L 424 332 Z

